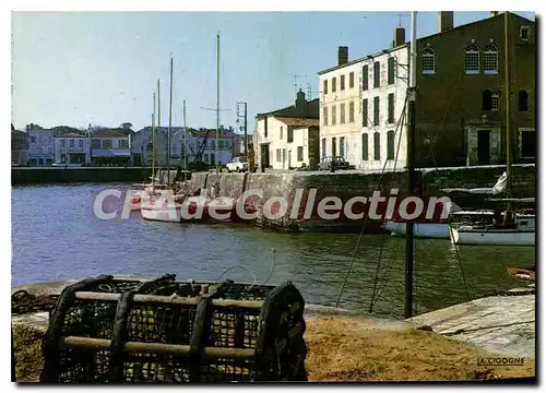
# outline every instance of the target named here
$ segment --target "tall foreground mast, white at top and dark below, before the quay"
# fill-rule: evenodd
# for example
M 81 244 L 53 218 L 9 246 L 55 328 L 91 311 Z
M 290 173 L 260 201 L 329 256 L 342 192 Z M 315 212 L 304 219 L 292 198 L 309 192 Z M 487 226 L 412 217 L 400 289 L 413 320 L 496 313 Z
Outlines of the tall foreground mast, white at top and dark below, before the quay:
M 417 12 L 412 11 L 412 32 L 410 45 L 410 86 L 407 88 L 407 195 L 415 191 L 415 96 L 416 96 L 416 24 Z M 405 318 L 413 315 L 413 257 L 414 257 L 414 223 L 406 223 L 406 261 L 405 261 Z

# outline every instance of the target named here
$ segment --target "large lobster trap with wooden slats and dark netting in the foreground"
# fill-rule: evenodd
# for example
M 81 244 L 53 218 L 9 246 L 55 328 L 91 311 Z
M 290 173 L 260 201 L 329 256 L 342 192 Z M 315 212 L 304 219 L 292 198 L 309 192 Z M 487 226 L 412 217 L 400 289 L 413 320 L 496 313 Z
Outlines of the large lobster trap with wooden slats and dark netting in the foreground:
M 304 307 L 292 283 L 84 279 L 51 311 L 40 381 L 307 381 Z

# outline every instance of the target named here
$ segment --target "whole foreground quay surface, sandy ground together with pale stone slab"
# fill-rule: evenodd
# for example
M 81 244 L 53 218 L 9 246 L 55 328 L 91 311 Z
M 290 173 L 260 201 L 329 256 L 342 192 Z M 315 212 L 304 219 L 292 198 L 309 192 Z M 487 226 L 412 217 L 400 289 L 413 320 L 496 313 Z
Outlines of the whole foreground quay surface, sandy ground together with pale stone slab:
M 32 295 L 56 296 L 74 282 L 19 286 L 12 288 L 12 293 L 25 289 Z M 495 380 L 534 377 L 535 325 L 526 323 L 517 326 L 520 320 L 534 321 L 534 295 L 488 297 L 410 320 L 378 319 L 355 311 L 307 305 L 305 337 L 309 380 Z M 47 311 L 12 314 L 17 381 L 38 380 L 43 364 L 39 340 L 48 322 Z M 507 322 L 512 325 L 508 326 Z M 424 329 L 424 324 L 431 329 Z M 461 340 L 461 334 L 447 334 L 460 329 L 466 332 L 484 330 L 487 334 L 478 334 L 479 338 L 467 335 L 464 340 Z M 500 356 L 521 357 L 523 366 L 478 365 L 478 359 Z

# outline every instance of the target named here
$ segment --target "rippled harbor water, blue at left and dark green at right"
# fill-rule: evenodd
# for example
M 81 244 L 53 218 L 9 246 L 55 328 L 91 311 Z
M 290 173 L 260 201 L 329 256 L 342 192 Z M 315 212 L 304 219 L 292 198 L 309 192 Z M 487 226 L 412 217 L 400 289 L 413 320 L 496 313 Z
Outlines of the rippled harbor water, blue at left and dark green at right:
M 12 285 L 98 274 L 177 274 L 186 281 L 278 284 L 292 281 L 306 301 L 392 318 L 404 311 L 405 239 L 385 235 L 282 234 L 251 225 L 145 222 L 94 215 L 95 198 L 128 184 L 12 189 Z M 121 213 L 122 198 L 104 210 Z M 415 312 L 423 313 L 521 285 L 507 267 L 534 265 L 534 247 L 415 243 Z

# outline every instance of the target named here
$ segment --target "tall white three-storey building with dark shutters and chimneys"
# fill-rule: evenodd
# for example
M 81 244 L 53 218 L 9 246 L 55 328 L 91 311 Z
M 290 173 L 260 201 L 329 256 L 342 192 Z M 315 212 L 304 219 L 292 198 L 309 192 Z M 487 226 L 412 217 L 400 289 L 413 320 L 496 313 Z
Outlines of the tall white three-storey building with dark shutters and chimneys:
M 339 48 L 337 67 L 320 71 L 320 154 L 343 156 L 359 169 L 403 168 L 408 45 L 404 28 L 393 48 L 348 61 Z M 399 148 L 400 143 L 400 148 Z M 396 159 L 397 157 L 397 159 Z

